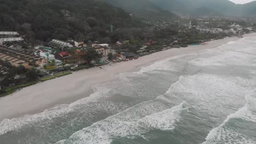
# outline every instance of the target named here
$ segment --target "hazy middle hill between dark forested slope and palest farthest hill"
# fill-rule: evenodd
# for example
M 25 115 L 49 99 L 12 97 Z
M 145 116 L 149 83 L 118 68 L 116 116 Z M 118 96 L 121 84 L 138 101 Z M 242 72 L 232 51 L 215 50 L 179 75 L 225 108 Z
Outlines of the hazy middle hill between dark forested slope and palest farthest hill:
M 159 17 L 168 17 L 173 18 L 177 17 L 168 10 L 163 10 L 159 8 L 158 5 L 150 2 L 149 0 L 100 0 L 109 2 L 115 7 L 120 7 L 127 12 L 145 18 L 159 18 Z

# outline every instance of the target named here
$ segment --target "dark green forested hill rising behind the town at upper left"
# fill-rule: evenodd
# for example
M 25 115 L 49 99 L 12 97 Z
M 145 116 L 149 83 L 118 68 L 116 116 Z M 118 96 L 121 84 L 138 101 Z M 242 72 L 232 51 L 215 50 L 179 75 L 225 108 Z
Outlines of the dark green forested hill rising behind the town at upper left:
M 115 29 L 141 26 L 123 9 L 92 0 L 0 0 L 0 31 L 18 31 L 27 40 L 107 39 Z

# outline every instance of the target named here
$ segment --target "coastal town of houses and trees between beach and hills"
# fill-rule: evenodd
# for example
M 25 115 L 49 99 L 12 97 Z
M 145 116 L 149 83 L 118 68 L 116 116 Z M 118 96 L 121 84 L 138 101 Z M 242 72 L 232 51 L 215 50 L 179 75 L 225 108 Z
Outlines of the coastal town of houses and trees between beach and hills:
M 0 32 L 0 97 L 37 82 L 72 74 L 72 71 L 132 61 L 172 48 L 206 45 L 207 41 L 215 39 L 242 37 L 245 33 L 255 32 L 254 22 L 254 19 L 183 17 L 182 21 L 170 23 L 146 22 L 147 27 L 143 29 L 113 32 L 111 27 L 111 40 L 107 44 L 85 38 L 52 39 L 34 44 L 18 32 L 3 31 Z M 124 33 L 136 37 L 125 38 Z

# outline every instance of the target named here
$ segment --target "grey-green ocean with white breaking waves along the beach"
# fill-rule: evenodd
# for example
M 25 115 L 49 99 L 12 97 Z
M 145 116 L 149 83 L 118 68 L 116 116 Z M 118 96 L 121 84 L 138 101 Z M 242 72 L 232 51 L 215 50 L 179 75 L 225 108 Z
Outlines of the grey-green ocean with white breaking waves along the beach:
M 118 74 L 70 105 L 4 119 L 0 143 L 256 143 L 255 87 L 251 36 Z

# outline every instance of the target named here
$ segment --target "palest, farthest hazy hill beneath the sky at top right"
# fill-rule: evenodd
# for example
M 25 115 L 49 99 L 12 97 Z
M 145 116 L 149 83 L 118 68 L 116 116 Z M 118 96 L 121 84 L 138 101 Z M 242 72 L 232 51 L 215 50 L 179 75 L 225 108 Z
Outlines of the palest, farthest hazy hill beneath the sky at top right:
M 235 4 L 228 0 L 150 0 L 160 8 L 191 16 L 256 16 L 256 2 Z

